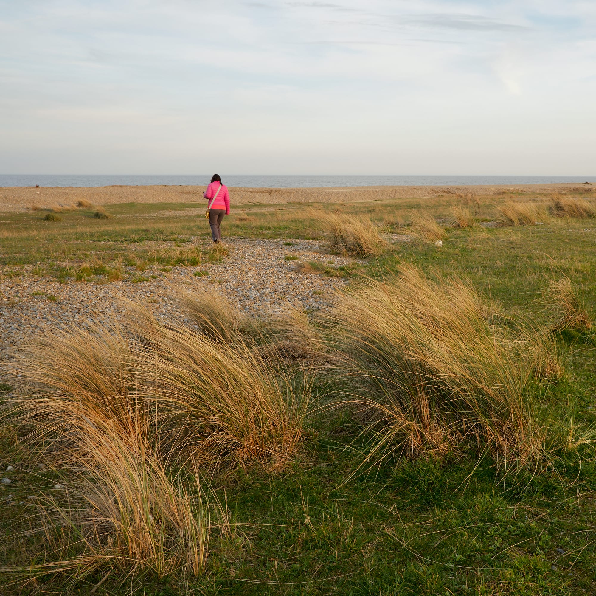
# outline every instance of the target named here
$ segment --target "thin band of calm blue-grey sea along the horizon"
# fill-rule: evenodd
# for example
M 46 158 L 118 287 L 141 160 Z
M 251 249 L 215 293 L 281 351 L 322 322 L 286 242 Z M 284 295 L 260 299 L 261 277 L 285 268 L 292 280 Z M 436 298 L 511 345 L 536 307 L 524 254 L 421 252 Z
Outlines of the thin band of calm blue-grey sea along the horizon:
M 241 176 L 221 174 L 231 187 L 299 188 L 354 186 L 467 186 L 474 184 L 554 184 L 596 182 L 596 176 Z M 152 184 L 205 186 L 211 175 L 12 175 L 0 174 L 0 187 L 100 187 Z

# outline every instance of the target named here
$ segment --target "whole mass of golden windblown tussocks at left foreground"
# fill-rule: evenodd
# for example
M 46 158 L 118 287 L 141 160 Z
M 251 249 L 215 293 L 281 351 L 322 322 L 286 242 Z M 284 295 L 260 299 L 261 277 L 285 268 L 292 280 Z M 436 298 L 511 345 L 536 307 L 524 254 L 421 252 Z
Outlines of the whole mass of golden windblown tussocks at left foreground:
M 203 477 L 279 470 L 302 442 L 308 391 L 254 344 L 129 307 L 123 327 L 55 331 L 29 348 L 11 417 L 31 457 L 70 470 L 55 470 L 67 492 L 39 501 L 45 559 L 30 576 L 200 575 L 210 539 L 231 532 Z

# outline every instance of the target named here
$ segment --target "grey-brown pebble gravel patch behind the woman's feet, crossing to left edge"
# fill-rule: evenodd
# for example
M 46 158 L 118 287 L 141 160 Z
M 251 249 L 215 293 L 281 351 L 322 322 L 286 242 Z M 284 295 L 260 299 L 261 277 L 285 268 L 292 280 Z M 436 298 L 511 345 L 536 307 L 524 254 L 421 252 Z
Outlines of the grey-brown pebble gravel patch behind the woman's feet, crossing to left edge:
M 196 240 L 200 244 L 201 240 Z M 318 241 L 231 238 L 226 241 L 229 256 L 220 262 L 201 263 L 196 267 L 173 267 L 162 272 L 149 269 L 142 275 L 155 279 L 132 283 L 117 281 L 104 284 L 60 284 L 52 278 L 23 277 L 0 281 L 0 378 L 12 368 L 18 346 L 39 331 L 75 324 L 92 325 L 106 316 L 120 318 L 125 306 L 122 299 L 151 303 L 163 318 L 182 320 L 178 297 L 184 291 L 215 287 L 241 310 L 251 315 L 276 314 L 294 305 L 321 309 L 329 305 L 334 288 L 342 287 L 341 278 L 323 277 L 294 271 L 299 260 L 333 266 L 353 262 L 341 256 L 324 254 Z M 195 277 L 195 272 L 207 275 Z M 35 295 L 37 294 L 37 295 Z M 55 297 L 55 302 L 48 299 Z

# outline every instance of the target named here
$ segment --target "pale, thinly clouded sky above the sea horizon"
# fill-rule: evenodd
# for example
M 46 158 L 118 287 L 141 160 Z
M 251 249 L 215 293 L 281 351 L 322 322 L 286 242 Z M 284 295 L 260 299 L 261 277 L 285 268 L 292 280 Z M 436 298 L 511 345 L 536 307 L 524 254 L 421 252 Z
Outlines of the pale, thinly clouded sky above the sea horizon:
M 594 0 L 0 0 L 0 173 L 596 175 Z

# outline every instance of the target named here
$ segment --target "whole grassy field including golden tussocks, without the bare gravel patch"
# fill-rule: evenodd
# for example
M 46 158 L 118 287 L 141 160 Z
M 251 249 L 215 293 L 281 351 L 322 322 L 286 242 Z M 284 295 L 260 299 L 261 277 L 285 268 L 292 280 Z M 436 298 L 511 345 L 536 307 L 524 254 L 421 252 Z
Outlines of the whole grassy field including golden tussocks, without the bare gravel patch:
M 196 204 L 105 211 L 3 214 L 2 275 L 221 258 Z M 321 270 L 352 288 L 325 315 L 206 294 L 201 331 L 139 310 L 27 353 L 0 387 L 2 594 L 596 593 L 592 215 L 588 192 L 233 213 L 225 235 L 366 265 Z

